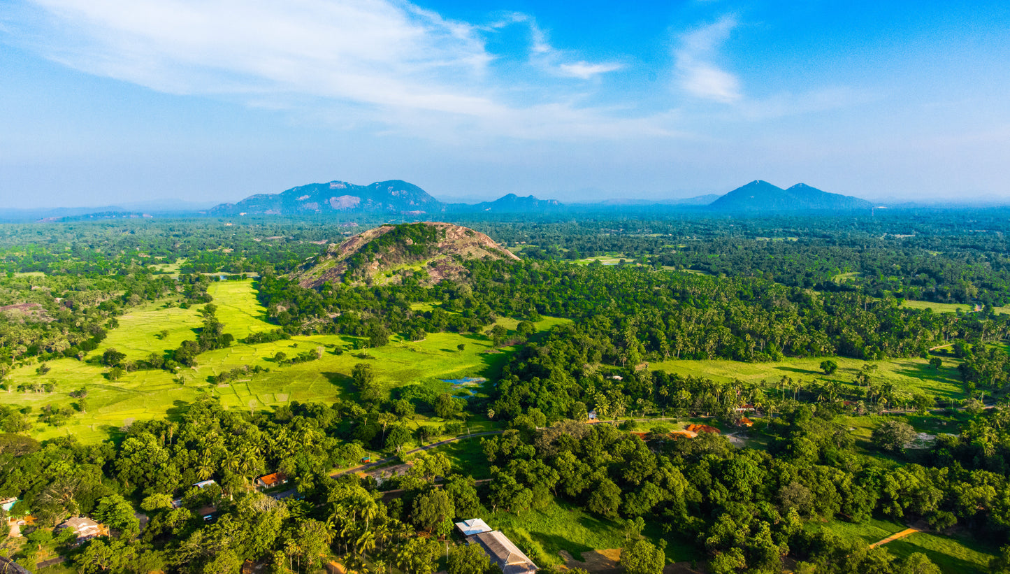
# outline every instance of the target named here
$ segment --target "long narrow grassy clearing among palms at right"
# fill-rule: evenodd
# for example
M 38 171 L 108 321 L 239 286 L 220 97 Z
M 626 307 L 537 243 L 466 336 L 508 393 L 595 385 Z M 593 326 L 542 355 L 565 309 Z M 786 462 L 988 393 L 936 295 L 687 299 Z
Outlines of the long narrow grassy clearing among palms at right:
M 851 385 L 866 364 L 877 365 L 873 380 L 877 383 L 890 382 L 908 392 L 920 392 L 943 398 L 964 398 L 957 363 L 954 359 L 944 359 L 943 366 L 934 371 L 924 359 L 889 359 L 885 361 L 862 361 L 834 357 L 838 370 L 825 375 L 820 370 L 823 358 L 786 359 L 778 363 L 740 363 L 736 361 L 664 361 L 652 363 L 651 369 L 684 376 L 700 376 L 728 382 L 732 379 L 765 383 L 770 388 L 784 375 L 796 379 L 837 381 Z

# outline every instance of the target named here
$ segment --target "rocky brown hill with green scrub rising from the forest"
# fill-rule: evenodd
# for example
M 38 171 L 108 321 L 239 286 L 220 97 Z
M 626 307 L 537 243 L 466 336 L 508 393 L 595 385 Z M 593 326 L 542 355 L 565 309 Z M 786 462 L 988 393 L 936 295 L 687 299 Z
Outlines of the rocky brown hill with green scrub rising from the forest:
M 327 281 L 399 283 L 416 277 L 424 284 L 458 279 L 466 274 L 462 261 L 519 258 L 491 237 L 469 227 L 426 221 L 382 225 L 359 233 L 310 261 L 294 274 L 303 287 Z

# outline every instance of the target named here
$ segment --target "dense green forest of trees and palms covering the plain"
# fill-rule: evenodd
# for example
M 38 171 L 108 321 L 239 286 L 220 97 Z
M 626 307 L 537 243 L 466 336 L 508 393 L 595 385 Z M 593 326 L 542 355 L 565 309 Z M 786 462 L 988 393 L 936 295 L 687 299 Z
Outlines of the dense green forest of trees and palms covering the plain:
M 558 549 L 579 548 L 579 520 L 534 527 L 564 512 L 610 533 L 611 546 L 583 551 L 619 548 L 629 574 L 674 562 L 715 574 L 1010 572 L 1006 221 L 900 210 L 483 219 L 467 224 L 522 261 L 462 261 L 465 278 L 433 286 L 406 273 L 319 289 L 287 275 L 366 225 L 5 225 L 0 499 L 13 504 L 0 519 L 25 523 L 20 538 L 0 530 L 0 556 L 39 572 L 317 572 L 332 560 L 361 573 L 490 574 L 452 525 L 484 517 L 549 573 L 566 562 Z M 434 238 L 402 225 L 382 242 L 421 254 Z M 246 276 L 269 328 L 236 334 L 236 304 L 210 291 Z M 921 301 L 965 306 L 911 304 Z M 140 312 L 179 312 L 192 327 L 153 327 L 164 352 L 142 358 L 109 347 Z M 396 380 L 375 357 L 395 347 L 419 360 L 425 341 L 439 357 L 486 346 L 480 392 Z M 192 380 L 233 348 L 278 344 L 263 362 Z M 222 399 L 223 387 L 336 357 L 352 360 L 325 373 L 335 400 Z M 846 361 L 857 365 L 846 378 L 824 378 Z M 783 369 L 746 380 L 677 371 L 712 363 Z M 101 376 L 68 390 L 54 365 Z M 903 376 L 921 384 L 896 384 L 889 365 L 918 366 Z M 48 434 L 88 412 L 89 389 L 141 373 L 175 381 L 165 393 L 199 394 L 97 441 Z M 483 436 L 468 439 L 471 426 Z M 387 466 L 344 472 L 373 459 Z M 264 492 L 255 481 L 271 473 L 289 482 Z M 69 516 L 107 535 L 77 544 L 54 529 Z M 877 524 L 922 531 L 933 550 L 845 535 Z M 951 550 L 965 545 L 981 550 Z

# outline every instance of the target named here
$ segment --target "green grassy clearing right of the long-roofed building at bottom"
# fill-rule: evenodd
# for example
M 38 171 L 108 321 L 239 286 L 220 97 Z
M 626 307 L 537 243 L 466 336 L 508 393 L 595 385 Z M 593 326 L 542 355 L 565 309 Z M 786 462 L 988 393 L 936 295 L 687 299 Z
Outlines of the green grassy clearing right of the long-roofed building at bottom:
M 540 567 L 564 564 L 559 554 L 563 550 L 576 560 L 582 560 L 583 553 L 620 548 L 624 544 L 624 535 L 617 522 L 563 501 L 552 502 L 543 510 L 527 510 L 522 515 L 499 510 L 485 519 L 491 528 L 504 532 L 520 549 L 532 550 L 542 557 L 537 563 Z M 661 538 L 656 524 L 649 524 L 644 534 L 653 542 Z M 668 541 L 669 561 L 698 558 L 690 547 L 677 544 L 676 536 L 670 536 Z

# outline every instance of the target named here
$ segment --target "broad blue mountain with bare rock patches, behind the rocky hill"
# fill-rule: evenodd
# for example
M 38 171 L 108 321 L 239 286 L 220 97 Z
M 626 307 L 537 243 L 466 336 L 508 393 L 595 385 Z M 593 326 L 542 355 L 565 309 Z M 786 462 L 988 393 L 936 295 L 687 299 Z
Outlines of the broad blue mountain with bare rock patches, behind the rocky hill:
M 372 185 L 343 181 L 312 183 L 281 193 L 252 195 L 238 203 L 222 203 L 211 215 L 311 215 L 341 212 L 421 214 L 440 211 L 442 203 L 414 184 L 400 180 Z

